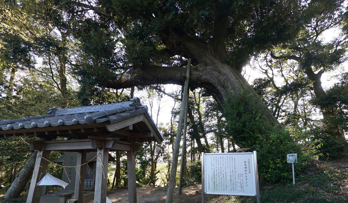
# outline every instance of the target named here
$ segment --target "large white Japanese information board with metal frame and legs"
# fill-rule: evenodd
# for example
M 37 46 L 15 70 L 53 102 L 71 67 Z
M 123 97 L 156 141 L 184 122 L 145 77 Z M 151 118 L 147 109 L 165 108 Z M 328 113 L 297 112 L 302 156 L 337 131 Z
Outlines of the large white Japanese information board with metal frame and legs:
M 202 203 L 205 194 L 256 196 L 260 203 L 256 151 L 202 153 Z

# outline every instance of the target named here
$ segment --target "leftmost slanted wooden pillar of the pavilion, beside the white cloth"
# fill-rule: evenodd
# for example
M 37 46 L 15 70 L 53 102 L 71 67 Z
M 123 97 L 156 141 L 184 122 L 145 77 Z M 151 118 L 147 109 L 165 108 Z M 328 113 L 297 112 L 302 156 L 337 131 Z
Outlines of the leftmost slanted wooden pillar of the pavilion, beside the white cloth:
M 39 203 L 41 192 L 42 192 L 42 186 L 37 186 L 36 184 L 45 176 L 45 172 L 47 169 L 48 162 L 41 158 L 44 157 L 46 159 L 49 158 L 49 154 L 51 151 L 43 150 L 44 146 L 41 148 L 42 150 L 38 150 L 38 156 L 36 158 L 33 176 L 31 178 L 30 188 L 28 197 L 26 199 L 26 203 Z

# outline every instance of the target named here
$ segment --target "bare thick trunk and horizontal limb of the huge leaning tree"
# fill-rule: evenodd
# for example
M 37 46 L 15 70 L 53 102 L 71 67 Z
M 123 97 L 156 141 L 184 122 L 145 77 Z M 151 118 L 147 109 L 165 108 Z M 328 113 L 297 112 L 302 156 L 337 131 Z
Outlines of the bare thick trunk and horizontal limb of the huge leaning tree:
M 272 126 L 279 124 L 268 110 L 266 104 L 262 102 L 258 94 L 237 69 L 221 63 L 212 57 L 207 56 L 206 58 L 208 60 L 205 60 L 205 62 L 192 66 L 192 74 L 190 75 L 189 82 L 190 88 L 201 87 L 207 89 L 214 97 L 222 112 L 224 112 L 224 101 L 228 100 L 232 94 L 239 94 L 242 91 L 250 93 L 258 101 L 251 105 L 264 107 L 264 119 Z M 183 75 L 185 75 L 185 68 L 183 67 L 159 67 L 150 65 L 150 68 L 143 68 L 139 66 L 130 68 L 129 72 L 124 73 L 119 80 L 105 81 L 104 85 L 110 88 L 152 84 L 182 85 Z

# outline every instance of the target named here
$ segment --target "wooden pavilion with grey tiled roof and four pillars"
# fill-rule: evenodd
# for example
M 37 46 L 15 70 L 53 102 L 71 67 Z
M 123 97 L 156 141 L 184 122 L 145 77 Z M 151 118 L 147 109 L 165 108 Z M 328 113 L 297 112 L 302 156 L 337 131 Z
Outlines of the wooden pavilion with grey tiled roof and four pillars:
M 27 203 L 39 203 L 42 186 L 37 186 L 46 172 L 50 151 L 77 152 L 77 174 L 72 202 L 83 202 L 83 178 L 86 153 L 96 152 L 94 202 L 106 202 L 109 151 L 127 152 L 128 201 L 136 203 L 135 151 L 143 142 L 163 141 L 157 126 L 139 98 L 128 102 L 50 108 L 46 115 L 0 121 L 0 137 L 35 136 L 27 140 L 31 150 L 38 150 Z M 59 139 L 61 137 L 61 139 Z M 64 139 L 65 138 L 65 139 Z M 47 159 L 47 160 L 46 160 Z M 79 166 L 81 165 L 81 166 Z M 82 183 L 82 184 L 81 184 Z

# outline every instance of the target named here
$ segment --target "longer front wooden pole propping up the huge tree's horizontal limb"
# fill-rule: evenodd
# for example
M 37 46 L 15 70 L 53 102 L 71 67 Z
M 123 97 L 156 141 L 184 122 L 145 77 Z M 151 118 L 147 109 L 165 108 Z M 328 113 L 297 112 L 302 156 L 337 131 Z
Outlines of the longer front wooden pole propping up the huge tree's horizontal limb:
M 190 69 L 191 69 L 191 58 L 189 58 L 189 62 L 188 62 L 188 65 L 187 65 L 187 71 L 186 71 L 186 77 L 185 77 L 185 85 L 184 85 L 184 92 L 183 92 L 183 96 L 182 96 L 182 103 L 181 103 L 181 109 L 180 109 L 179 125 L 177 127 L 175 146 L 174 146 L 174 151 L 173 151 L 172 169 L 171 169 L 171 174 L 170 174 L 169 182 L 168 182 L 166 203 L 172 203 L 173 202 L 173 193 L 174 193 L 176 169 L 177 169 L 177 159 L 178 159 L 178 156 L 179 156 L 181 133 L 182 133 L 183 120 L 184 120 L 184 112 L 185 112 L 186 104 L 187 104 L 187 101 L 188 101 L 188 88 L 189 88 Z

